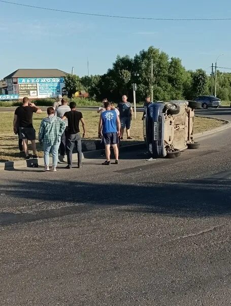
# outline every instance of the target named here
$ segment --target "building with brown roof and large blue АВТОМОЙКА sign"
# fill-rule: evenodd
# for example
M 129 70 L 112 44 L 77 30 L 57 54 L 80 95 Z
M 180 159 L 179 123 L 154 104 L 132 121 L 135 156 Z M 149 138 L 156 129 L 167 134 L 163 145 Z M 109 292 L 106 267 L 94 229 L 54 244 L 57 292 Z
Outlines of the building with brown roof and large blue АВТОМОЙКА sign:
M 19 99 L 54 98 L 63 94 L 67 74 L 59 69 L 18 69 L 4 78 L 5 94 L 19 95 Z

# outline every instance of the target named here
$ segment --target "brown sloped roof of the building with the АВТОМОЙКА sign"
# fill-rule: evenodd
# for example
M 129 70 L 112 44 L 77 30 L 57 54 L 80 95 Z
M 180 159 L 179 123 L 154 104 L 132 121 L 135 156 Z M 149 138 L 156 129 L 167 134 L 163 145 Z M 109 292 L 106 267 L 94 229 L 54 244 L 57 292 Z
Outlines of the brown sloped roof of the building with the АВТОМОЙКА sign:
M 17 69 L 7 75 L 4 80 L 11 78 L 61 78 L 67 74 L 59 69 Z

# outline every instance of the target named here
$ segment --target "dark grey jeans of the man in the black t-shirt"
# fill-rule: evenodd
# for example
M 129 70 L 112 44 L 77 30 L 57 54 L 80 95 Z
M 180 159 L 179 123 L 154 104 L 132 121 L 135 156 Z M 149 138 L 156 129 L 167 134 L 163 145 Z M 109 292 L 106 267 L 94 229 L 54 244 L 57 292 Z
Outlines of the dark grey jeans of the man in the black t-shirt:
M 68 157 L 68 165 L 72 166 L 72 151 L 74 146 L 76 146 L 77 153 L 78 153 L 78 166 L 82 163 L 82 143 L 81 143 L 81 136 L 80 133 L 77 134 L 68 134 L 66 135 L 66 151 Z

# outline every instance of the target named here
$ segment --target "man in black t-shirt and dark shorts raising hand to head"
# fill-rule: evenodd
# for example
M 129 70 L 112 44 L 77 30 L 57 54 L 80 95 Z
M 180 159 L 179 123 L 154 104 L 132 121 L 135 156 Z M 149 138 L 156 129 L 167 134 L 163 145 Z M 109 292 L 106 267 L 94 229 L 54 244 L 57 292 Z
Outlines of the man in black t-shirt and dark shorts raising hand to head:
M 14 113 L 14 133 L 17 133 L 17 124 L 19 131 L 19 138 L 22 139 L 22 146 L 25 152 L 25 159 L 29 159 L 28 154 L 28 140 L 31 141 L 33 158 L 37 158 L 36 155 L 36 131 L 32 124 L 33 113 L 41 113 L 42 110 L 34 103 L 29 102 L 29 98 L 24 97 L 22 105 L 17 107 Z

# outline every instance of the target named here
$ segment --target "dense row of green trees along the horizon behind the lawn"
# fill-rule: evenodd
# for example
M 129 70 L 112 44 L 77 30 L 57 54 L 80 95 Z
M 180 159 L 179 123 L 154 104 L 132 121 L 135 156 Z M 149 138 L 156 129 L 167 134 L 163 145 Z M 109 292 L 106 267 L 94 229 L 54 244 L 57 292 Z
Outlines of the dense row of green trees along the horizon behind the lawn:
M 186 70 L 181 59 L 169 58 L 167 53 L 152 46 L 140 51 L 134 58 L 117 56 L 112 68 L 103 75 L 86 75 L 82 78 L 68 75 L 65 79 L 70 95 L 84 89 L 91 98 L 113 101 L 119 101 L 123 94 L 132 100 L 133 83 L 137 84 L 138 101 L 151 94 L 152 86 L 154 101 L 190 100 L 199 95 L 210 95 L 212 83 L 211 75 L 203 69 Z M 231 73 L 217 71 L 217 96 L 222 100 L 231 100 Z

